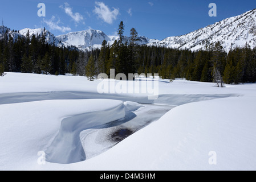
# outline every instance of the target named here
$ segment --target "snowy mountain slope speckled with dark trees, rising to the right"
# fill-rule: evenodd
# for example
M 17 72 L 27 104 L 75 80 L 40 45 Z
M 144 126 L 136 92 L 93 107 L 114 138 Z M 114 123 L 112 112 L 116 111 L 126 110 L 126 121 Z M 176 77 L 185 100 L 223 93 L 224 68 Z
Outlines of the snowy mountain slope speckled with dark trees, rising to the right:
M 246 44 L 256 47 L 256 9 L 242 15 L 224 19 L 205 28 L 181 36 L 170 36 L 148 46 L 161 46 L 197 51 L 213 46 L 220 41 L 226 52 Z

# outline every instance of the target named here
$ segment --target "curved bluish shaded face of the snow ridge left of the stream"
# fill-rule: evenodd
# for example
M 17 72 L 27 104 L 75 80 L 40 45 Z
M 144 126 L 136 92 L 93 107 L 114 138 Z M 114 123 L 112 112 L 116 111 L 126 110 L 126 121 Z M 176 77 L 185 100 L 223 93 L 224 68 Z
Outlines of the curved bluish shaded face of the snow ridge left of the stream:
M 93 111 L 64 118 L 59 133 L 46 150 L 46 160 L 52 163 L 69 164 L 86 160 L 80 132 L 87 129 L 99 128 L 106 123 L 124 118 L 125 107 L 119 105 L 109 109 Z

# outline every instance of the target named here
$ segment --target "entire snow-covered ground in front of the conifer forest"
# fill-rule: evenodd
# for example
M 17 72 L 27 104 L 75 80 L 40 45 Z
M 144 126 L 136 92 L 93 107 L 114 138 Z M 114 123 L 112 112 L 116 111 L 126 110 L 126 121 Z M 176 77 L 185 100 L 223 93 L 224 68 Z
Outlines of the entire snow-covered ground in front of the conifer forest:
M 256 169 L 255 84 L 160 80 L 148 100 L 99 94 L 100 83 L 0 77 L 0 170 Z

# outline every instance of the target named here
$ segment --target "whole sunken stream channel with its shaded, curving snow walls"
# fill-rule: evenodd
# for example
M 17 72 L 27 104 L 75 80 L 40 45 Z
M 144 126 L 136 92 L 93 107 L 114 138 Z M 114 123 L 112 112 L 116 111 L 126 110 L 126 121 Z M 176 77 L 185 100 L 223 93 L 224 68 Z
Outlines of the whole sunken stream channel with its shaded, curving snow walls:
M 59 133 L 46 151 L 46 159 L 48 162 L 67 164 L 101 154 L 149 123 L 157 121 L 175 106 L 234 96 L 232 94 L 165 94 L 160 95 L 157 100 L 148 100 L 146 96 L 88 92 L 8 93 L 0 94 L 0 104 L 95 98 L 124 101 L 123 105 L 111 110 L 82 113 L 61 121 Z M 104 125 L 102 120 L 105 121 Z

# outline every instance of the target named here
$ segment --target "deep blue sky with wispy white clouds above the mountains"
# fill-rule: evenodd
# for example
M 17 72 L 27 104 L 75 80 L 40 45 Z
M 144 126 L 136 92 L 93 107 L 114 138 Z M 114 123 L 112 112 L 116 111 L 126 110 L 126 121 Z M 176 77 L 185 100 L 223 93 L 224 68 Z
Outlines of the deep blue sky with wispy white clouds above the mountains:
M 38 3 L 46 5 L 39 17 Z M 208 7 L 216 3 L 217 16 Z M 55 36 L 89 28 L 115 35 L 123 20 L 125 35 L 134 27 L 139 35 L 162 40 L 184 35 L 222 19 L 256 8 L 255 0 L 1 0 L 0 18 L 11 30 L 46 27 Z

